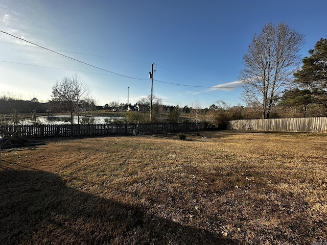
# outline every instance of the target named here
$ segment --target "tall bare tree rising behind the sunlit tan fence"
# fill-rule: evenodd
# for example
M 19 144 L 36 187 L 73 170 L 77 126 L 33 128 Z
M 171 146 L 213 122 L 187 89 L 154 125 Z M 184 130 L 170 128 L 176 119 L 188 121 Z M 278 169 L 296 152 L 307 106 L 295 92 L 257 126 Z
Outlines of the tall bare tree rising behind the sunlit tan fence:
M 300 64 L 298 52 L 304 36 L 286 24 L 265 25 L 259 35 L 254 35 L 248 52 L 243 56 L 243 99 L 248 106 L 259 110 L 262 118 L 270 111 L 283 90 L 289 88 L 293 72 Z

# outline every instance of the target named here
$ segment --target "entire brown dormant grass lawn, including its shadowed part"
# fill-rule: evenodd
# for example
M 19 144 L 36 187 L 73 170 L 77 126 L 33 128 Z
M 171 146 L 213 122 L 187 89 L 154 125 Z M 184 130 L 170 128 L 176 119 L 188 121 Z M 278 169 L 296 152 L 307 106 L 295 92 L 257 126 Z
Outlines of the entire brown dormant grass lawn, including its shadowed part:
M 51 139 L 2 151 L 0 244 L 324 244 L 327 136 Z

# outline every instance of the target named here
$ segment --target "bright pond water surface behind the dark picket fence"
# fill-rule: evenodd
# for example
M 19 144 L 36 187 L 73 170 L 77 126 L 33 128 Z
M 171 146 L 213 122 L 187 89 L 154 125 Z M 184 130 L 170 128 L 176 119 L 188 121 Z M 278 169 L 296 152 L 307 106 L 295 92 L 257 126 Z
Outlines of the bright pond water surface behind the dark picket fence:
M 94 116 L 84 117 L 80 116 L 80 124 L 109 124 L 117 120 L 122 120 L 125 117 L 118 116 Z M 39 124 L 69 124 L 71 122 L 71 116 L 68 115 L 52 115 L 52 116 L 38 116 L 36 121 Z M 23 122 L 25 125 L 33 124 L 33 120 L 27 119 Z M 78 117 L 73 116 L 74 124 L 78 124 Z

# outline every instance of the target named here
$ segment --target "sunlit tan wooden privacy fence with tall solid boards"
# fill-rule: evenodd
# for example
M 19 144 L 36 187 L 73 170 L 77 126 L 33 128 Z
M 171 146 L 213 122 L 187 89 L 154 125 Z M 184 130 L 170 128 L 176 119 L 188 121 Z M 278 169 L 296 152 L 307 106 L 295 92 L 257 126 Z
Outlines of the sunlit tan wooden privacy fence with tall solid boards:
M 229 121 L 228 128 L 254 131 L 327 133 L 327 117 L 232 120 Z

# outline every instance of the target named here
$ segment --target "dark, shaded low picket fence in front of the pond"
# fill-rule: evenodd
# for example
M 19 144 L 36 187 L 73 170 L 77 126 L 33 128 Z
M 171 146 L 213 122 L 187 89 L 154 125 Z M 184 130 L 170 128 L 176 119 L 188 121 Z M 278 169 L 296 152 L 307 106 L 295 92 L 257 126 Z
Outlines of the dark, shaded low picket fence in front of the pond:
M 71 137 L 92 135 L 130 135 L 135 129 L 137 133 L 184 132 L 203 130 L 206 122 L 185 122 L 176 124 L 68 124 L 68 125 L 2 125 L 0 136 L 4 133 L 19 132 L 19 136 L 36 137 Z

